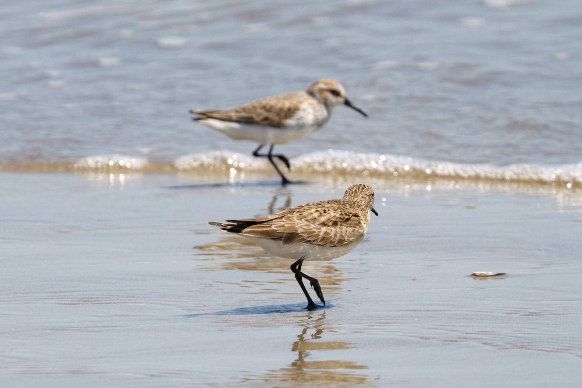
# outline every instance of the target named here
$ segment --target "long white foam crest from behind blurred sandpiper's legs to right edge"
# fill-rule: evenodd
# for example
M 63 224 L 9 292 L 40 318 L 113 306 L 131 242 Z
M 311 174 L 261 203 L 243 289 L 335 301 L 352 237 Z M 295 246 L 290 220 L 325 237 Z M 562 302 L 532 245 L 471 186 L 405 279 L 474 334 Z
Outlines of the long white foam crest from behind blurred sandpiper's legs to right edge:
M 423 160 L 407 156 L 352 151 L 327 150 L 301 155 L 290 160 L 292 173 L 297 175 L 327 174 L 346 177 L 406 178 L 414 180 L 451 179 L 553 184 L 564 188 L 582 187 L 582 163 L 559 166 L 533 164 L 452 163 Z M 277 162 L 280 163 L 280 162 Z M 265 159 L 240 155 L 228 150 L 186 155 L 175 161 L 180 171 L 214 174 L 221 171 L 263 173 L 272 168 Z

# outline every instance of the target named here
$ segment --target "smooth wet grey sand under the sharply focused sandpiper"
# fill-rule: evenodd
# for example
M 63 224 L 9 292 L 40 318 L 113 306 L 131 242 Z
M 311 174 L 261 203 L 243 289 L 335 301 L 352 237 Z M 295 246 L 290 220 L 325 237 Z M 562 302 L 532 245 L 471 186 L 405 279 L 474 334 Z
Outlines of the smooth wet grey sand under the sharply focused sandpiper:
M 1 386 L 542 387 L 582 376 L 582 213 L 560 192 L 371 182 L 379 217 L 352 253 L 304 265 L 328 301 L 306 311 L 289 260 L 207 221 L 341 197 L 356 182 L 0 178 Z

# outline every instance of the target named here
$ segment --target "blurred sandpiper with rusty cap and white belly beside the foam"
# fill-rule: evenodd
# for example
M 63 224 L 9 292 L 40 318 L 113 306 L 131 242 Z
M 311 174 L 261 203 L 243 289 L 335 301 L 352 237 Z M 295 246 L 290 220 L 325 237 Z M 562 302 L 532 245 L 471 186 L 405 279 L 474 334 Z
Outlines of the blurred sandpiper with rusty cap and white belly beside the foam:
M 225 110 L 191 109 L 190 113 L 198 115 L 193 117 L 194 121 L 230 138 L 258 142 L 253 156 L 267 157 L 281 175 L 282 184 L 286 185 L 291 181 L 279 170 L 273 158 L 281 160 L 288 169 L 291 164 L 284 155 L 273 153 L 275 144 L 301 140 L 313 134 L 327 123 L 333 108 L 342 104 L 368 116 L 346 98 L 342 84 L 333 80 L 315 81 L 306 92 L 265 97 Z M 267 145 L 269 151 L 260 154 L 261 148 Z

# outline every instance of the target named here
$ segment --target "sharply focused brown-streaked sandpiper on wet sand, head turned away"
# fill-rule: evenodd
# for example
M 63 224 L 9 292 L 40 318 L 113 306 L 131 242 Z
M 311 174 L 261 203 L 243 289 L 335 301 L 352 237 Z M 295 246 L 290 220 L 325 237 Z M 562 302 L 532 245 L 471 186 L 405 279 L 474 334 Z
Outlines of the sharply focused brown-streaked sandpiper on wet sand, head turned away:
M 317 279 L 301 272 L 304 260 L 331 260 L 350 252 L 364 238 L 375 215 L 374 190 L 363 184 L 350 186 L 343 199 L 310 202 L 260 218 L 209 222 L 222 231 L 239 233 L 273 256 L 296 260 L 291 271 L 307 297 L 307 308 L 318 306 L 307 292 L 306 278 L 325 306 Z

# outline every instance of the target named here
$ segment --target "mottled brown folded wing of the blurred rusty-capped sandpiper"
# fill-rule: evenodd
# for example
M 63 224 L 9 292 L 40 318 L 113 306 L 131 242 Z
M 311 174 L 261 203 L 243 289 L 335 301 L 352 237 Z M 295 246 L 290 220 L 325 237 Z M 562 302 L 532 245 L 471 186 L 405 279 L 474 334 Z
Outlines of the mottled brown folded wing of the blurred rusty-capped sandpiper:
M 267 125 L 282 127 L 282 122 L 299 110 L 295 94 L 262 98 L 242 106 L 225 110 L 195 110 L 193 113 L 222 121 L 232 121 L 243 124 Z

